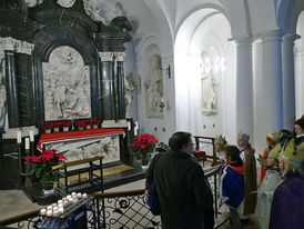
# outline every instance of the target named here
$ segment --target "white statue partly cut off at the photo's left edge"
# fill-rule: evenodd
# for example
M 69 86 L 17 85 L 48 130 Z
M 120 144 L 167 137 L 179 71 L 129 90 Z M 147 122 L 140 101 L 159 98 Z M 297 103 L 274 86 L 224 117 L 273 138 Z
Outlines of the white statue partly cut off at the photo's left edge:
M 4 78 L 4 58 L 0 59 L 0 127 L 4 126 L 7 109 L 7 89 L 6 89 L 6 78 Z

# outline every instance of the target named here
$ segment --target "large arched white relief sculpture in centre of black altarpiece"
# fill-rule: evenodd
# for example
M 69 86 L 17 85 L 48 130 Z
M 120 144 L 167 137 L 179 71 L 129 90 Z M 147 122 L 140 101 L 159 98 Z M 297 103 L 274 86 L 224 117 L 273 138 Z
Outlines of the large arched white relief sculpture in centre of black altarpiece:
M 90 118 L 90 69 L 80 53 L 59 47 L 42 67 L 45 121 Z

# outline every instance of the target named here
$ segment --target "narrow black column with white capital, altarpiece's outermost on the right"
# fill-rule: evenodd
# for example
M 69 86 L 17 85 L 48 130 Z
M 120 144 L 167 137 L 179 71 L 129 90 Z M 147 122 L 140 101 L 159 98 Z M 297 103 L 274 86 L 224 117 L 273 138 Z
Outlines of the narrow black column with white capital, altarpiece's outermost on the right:
M 125 104 L 124 104 L 124 71 L 123 71 L 123 60 L 124 52 L 114 52 L 116 60 L 116 94 L 118 94 L 118 117 L 119 119 L 125 118 Z

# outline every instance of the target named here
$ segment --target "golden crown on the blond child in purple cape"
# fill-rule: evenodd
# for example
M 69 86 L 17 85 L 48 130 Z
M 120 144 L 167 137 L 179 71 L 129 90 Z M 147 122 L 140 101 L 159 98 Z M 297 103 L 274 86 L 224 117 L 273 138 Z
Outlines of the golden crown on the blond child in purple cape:
M 290 140 L 286 146 L 283 147 L 278 159 L 293 166 L 300 166 L 304 160 L 304 142 L 295 147 L 294 139 Z

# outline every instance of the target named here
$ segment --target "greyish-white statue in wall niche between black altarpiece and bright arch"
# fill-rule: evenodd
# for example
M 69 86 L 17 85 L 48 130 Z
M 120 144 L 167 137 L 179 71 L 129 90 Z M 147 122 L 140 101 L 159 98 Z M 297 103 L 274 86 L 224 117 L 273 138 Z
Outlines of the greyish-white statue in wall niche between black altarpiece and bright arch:
M 151 70 L 144 83 L 145 110 L 148 118 L 162 118 L 163 110 L 161 100 L 163 98 L 163 77 L 161 57 L 156 53 L 151 57 Z

